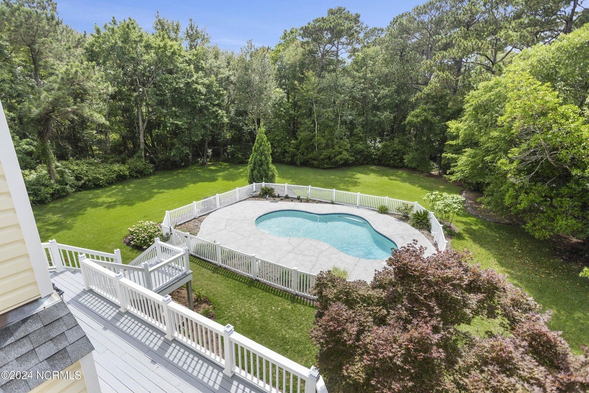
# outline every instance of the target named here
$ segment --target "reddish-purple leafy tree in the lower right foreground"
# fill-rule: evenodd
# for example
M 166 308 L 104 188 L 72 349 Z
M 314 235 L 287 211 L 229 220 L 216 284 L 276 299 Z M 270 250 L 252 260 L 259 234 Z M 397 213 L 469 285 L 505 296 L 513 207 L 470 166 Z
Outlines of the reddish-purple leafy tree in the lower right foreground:
M 373 281 L 319 274 L 311 335 L 330 392 L 587 392 L 589 361 L 573 355 L 549 314 L 466 253 L 399 249 Z M 457 329 L 497 318 L 504 335 Z

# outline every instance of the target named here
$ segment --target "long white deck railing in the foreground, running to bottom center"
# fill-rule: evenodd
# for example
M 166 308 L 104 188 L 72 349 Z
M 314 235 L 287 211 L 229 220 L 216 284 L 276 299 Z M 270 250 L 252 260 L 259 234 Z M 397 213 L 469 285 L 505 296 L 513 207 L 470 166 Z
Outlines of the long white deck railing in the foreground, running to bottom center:
M 83 255 L 78 260 L 85 289 L 219 364 L 229 377 L 237 375 L 270 393 L 327 393 L 315 367 L 303 367 L 235 332 L 231 325 L 211 321 L 171 301 L 169 295 L 162 297 Z

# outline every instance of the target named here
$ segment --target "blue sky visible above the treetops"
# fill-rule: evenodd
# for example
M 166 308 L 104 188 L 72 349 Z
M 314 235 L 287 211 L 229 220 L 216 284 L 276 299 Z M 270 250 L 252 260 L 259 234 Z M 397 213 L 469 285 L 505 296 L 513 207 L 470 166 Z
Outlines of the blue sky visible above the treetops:
M 211 41 L 221 48 L 237 50 L 248 39 L 256 45 L 276 45 L 284 29 L 305 25 L 328 8 L 343 5 L 359 12 L 370 27 L 385 27 L 391 19 L 409 11 L 425 0 L 374 1 L 155 1 L 155 0 L 58 0 L 59 15 L 78 31 L 94 30 L 112 16 L 134 18 L 141 26 L 151 29 L 155 11 L 183 26 L 193 18 L 199 26 L 206 26 Z

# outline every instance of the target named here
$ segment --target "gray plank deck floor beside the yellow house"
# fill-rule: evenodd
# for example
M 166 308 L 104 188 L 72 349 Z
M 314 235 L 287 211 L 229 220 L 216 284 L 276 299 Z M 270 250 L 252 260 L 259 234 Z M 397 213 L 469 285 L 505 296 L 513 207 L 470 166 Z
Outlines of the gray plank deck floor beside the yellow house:
M 65 292 L 65 302 L 94 345 L 102 392 L 262 392 L 238 377 L 226 377 L 219 365 L 84 291 L 80 271 L 53 272 L 51 279 Z

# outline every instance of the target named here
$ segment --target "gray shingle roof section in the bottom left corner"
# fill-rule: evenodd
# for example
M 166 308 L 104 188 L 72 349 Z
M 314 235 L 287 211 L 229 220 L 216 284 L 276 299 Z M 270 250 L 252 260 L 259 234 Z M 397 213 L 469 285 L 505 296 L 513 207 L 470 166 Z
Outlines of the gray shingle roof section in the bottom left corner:
M 0 372 L 32 371 L 31 379 L 0 378 L 0 393 L 28 392 L 45 382 L 37 371 L 61 371 L 94 349 L 67 305 L 59 301 L 0 329 Z

